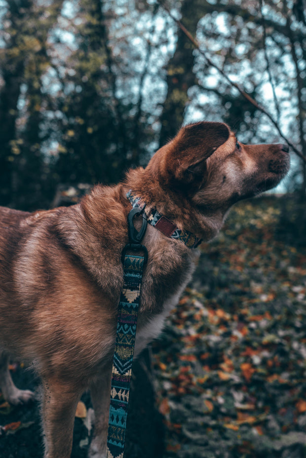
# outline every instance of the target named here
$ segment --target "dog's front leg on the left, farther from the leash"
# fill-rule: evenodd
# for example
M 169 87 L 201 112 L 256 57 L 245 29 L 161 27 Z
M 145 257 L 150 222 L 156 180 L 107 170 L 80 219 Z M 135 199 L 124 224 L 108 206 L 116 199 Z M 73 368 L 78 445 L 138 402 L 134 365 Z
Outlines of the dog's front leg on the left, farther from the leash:
M 43 380 L 44 458 L 70 458 L 76 406 L 82 391 L 68 381 Z

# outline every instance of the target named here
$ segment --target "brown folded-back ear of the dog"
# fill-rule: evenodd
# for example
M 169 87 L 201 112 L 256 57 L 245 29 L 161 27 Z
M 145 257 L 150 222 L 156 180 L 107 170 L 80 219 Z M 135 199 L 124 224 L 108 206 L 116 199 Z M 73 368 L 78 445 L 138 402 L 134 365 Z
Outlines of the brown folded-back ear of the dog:
M 169 144 L 168 172 L 177 180 L 189 182 L 203 177 L 206 159 L 229 139 L 223 122 L 196 122 L 182 127 Z

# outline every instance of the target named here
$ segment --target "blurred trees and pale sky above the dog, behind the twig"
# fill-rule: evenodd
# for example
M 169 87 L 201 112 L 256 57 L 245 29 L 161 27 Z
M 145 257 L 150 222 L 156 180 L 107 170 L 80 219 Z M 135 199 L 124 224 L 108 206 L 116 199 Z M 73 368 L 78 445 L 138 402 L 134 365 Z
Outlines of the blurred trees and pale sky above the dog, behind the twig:
M 62 185 L 115 183 L 182 122 L 279 142 L 192 48 L 162 1 L 0 2 L 0 204 L 47 207 Z M 201 50 L 305 152 L 303 0 L 169 0 Z M 294 162 L 291 191 L 306 190 Z

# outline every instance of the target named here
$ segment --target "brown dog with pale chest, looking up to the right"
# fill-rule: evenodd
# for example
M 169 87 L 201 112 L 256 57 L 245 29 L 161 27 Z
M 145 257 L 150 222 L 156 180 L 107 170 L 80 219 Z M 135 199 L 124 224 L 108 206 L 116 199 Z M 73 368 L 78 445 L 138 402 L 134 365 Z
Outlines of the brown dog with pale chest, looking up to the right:
M 45 457 L 70 457 L 76 404 L 88 387 L 96 416 L 89 456 L 105 457 L 127 191 L 146 203 L 149 220 L 154 208 L 165 217 L 160 230 L 148 225 L 142 242 L 149 261 L 137 354 L 158 335 L 193 271 L 196 250 L 169 235 L 179 229 L 211 239 L 233 203 L 274 187 L 288 169 L 286 145 L 242 145 L 226 124 L 198 122 L 145 169 L 129 171 L 118 186 L 97 186 L 77 205 L 0 209 L 0 387 L 10 403 L 28 401 L 33 394 L 10 378 L 8 354 L 35 362 Z

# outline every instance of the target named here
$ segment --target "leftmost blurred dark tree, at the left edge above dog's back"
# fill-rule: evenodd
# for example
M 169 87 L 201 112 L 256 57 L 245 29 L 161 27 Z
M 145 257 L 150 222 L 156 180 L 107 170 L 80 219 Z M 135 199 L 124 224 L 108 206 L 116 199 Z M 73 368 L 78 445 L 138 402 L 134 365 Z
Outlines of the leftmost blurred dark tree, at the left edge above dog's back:
M 47 94 L 42 77 L 49 66 L 48 32 L 62 0 L 47 9 L 32 0 L 8 2 L 0 49 L 1 202 L 31 208 L 46 202 L 41 122 Z M 39 27 L 37 26 L 39 23 Z

